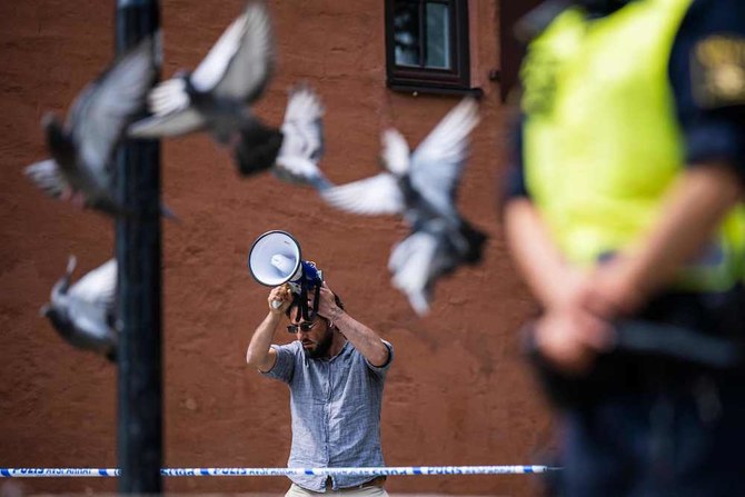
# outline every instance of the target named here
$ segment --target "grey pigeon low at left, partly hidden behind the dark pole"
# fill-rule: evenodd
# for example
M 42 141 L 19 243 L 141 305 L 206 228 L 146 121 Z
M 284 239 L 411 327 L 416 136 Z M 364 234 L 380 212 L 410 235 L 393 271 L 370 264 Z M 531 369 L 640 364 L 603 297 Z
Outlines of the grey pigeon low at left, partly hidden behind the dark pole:
M 52 288 L 50 302 L 41 308 L 54 330 L 73 347 L 92 350 L 116 361 L 118 334 L 115 331 L 117 261 L 109 260 L 70 286 L 76 258 Z

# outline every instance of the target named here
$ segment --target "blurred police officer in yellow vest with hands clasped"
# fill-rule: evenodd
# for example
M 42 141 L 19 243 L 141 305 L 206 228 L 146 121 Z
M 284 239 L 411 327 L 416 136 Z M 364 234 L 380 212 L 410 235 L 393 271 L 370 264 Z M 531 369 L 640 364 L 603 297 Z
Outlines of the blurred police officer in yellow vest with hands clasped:
M 559 493 L 745 495 L 745 2 L 555 1 L 523 27 L 504 215 Z

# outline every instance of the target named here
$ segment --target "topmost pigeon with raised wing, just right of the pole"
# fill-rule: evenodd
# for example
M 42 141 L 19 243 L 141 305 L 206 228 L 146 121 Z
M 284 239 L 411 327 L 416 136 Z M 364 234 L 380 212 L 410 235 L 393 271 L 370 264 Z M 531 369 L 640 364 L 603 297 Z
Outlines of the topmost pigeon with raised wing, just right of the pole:
M 242 139 L 274 143 L 278 149 L 279 130 L 266 127 L 250 109 L 264 92 L 274 66 L 269 13 L 262 2 L 250 1 L 193 72 L 180 72 L 150 91 L 152 116 L 135 122 L 129 136 L 159 138 L 208 131 L 221 146 L 236 146 Z M 272 162 L 274 158 L 264 158 L 261 166 L 267 169 Z

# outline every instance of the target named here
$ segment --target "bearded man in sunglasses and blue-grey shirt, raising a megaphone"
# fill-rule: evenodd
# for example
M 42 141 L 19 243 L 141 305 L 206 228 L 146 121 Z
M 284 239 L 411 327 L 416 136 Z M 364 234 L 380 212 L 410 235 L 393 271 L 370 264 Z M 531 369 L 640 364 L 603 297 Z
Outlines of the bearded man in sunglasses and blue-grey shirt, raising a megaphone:
M 251 272 L 264 285 L 269 279 L 261 276 L 261 269 L 282 266 L 276 264 L 275 256 L 281 252 L 284 242 L 295 252 L 286 251 L 282 257 L 300 260 L 299 245 L 295 247 L 297 241 L 288 233 L 266 235 L 264 239 L 280 241 L 268 243 L 271 249 L 266 250 L 264 257 L 268 262 L 264 264 L 262 257 L 257 256 L 262 252 L 260 247 L 257 249 L 262 238 L 257 240 L 249 256 Z M 315 265 L 306 266 L 302 272 L 307 276 L 314 270 Z M 291 274 L 287 269 L 280 271 Z M 296 278 L 296 281 L 300 280 Z M 305 290 L 301 290 L 304 285 Z M 267 304 L 267 317 L 254 331 L 246 361 L 290 388 L 292 447 L 288 466 L 385 466 L 380 450 L 380 407 L 393 346 L 349 316 L 341 299 L 322 279 L 315 285 L 312 279 L 305 284 L 288 279 L 271 289 Z M 286 327 L 281 326 L 284 322 Z M 296 340 L 272 345 L 278 329 L 286 329 Z M 301 475 L 290 476 L 290 479 L 288 497 L 337 490 L 345 490 L 349 496 L 388 495 L 383 488 L 384 476 Z

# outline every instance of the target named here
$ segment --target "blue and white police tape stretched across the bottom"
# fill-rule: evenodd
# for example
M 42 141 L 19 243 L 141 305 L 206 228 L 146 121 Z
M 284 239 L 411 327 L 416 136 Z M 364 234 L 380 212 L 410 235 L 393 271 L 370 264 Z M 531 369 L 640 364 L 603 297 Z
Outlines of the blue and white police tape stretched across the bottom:
M 519 475 L 555 471 L 552 466 L 404 466 L 370 468 L 163 468 L 162 476 L 292 476 L 292 475 Z M 117 477 L 118 468 L 0 468 L 2 478 Z

